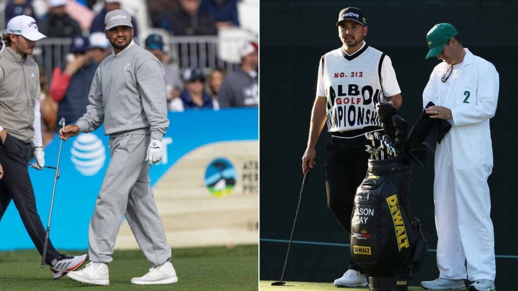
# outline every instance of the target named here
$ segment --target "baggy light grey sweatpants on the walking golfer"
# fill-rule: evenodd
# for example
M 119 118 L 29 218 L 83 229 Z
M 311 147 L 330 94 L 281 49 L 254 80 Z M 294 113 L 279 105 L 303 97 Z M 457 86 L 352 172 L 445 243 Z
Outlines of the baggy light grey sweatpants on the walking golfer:
M 130 225 L 140 249 L 152 267 L 171 258 L 164 227 L 153 198 L 146 159 L 147 135 L 110 139 L 111 161 L 95 203 L 88 229 L 89 256 L 96 263 L 110 263 L 122 219 Z

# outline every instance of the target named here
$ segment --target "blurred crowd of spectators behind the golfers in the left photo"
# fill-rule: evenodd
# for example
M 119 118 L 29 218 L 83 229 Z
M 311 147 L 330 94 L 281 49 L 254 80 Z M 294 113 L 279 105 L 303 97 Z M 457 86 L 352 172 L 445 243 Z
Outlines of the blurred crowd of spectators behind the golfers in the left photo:
M 41 71 L 41 113 L 44 141 L 52 138 L 57 116 L 75 121 L 88 105 L 90 85 L 97 66 L 111 53 L 105 37 L 106 13 L 121 9 L 122 0 L 104 0 L 103 8 L 92 13 L 91 23 L 77 13 L 70 13 L 70 3 L 81 3 L 92 9 L 96 0 L 39 0 L 45 2 L 47 12 L 35 11 L 38 0 L 8 0 L 5 23 L 25 14 L 36 19 L 39 31 L 49 38 L 69 38 L 71 45 L 66 62 L 56 66 L 51 76 Z M 219 30 L 239 26 L 238 0 L 148 0 L 151 26 L 166 30 L 174 36 L 217 35 Z M 92 10 L 89 10 L 92 11 Z M 39 14 L 39 18 L 38 18 Z M 137 19 L 132 17 L 134 36 L 138 34 Z M 135 38 L 138 40 L 138 38 Z M 172 62 L 161 34 L 151 33 L 142 43 L 165 70 L 166 97 L 170 111 L 190 109 L 219 110 L 227 107 L 258 106 L 258 45 L 246 42 L 239 50 L 239 67 L 228 75 L 222 67 L 192 66 L 180 70 Z M 39 64 L 41 65 L 41 64 Z M 203 64 L 205 66 L 206 64 Z M 51 77 L 51 78 L 48 78 Z M 48 82 L 50 80 L 50 83 Z

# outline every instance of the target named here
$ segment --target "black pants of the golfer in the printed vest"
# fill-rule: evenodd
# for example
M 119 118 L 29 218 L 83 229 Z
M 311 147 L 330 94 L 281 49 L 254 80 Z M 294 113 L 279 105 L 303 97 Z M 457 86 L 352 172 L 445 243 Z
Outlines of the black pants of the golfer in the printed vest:
M 332 137 L 326 146 L 326 191 L 327 206 L 340 225 L 351 233 L 351 215 L 354 195 L 367 172 L 369 154 L 365 152 L 368 140 L 364 136 L 356 138 Z M 363 270 L 352 260 L 349 269 Z

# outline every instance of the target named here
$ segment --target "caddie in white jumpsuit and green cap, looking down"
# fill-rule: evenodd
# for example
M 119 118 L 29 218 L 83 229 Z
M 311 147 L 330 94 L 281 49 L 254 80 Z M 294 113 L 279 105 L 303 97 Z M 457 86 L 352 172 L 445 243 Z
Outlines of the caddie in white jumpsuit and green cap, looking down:
M 451 24 L 435 25 L 427 35 L 434 68 L 423 92 L 431 118 L 448 120 L 450 132 L 435 153 L 434 201 L 437 266 L 425 289 L 495 290 L 491 200 L 487 178 L 493 169 L 489 120 L 495 115 L 499 79 L 495 66 L 463 48 Z M 465 266 L 465 261 L 467 264 Z

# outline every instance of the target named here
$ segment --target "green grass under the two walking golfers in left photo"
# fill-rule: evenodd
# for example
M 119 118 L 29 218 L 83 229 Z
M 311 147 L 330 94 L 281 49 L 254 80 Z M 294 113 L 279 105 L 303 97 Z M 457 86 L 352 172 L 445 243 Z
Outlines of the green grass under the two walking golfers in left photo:
M 81 254 L 84 252 L 69 252 Z M 52 280 L 49 267 L 39 267 L 37 251 L 0 252 L 0 290 L 257 290 L 258 246 L 173 249 L 171 263 L 178 283 L 166 285 L 133 285 L 151 268 L 142 252 L 115 251 L 109 264 L 110 285 L 92 286 L 67 277 Z

